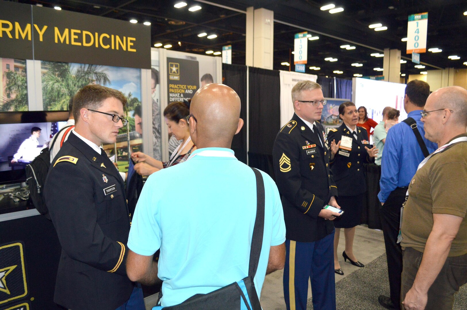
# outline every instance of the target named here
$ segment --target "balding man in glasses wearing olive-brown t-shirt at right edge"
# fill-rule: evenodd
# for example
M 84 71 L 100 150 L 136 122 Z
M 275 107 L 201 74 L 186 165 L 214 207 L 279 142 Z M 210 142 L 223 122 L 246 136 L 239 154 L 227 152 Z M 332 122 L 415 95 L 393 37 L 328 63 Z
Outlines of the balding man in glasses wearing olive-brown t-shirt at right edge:
M 421 113 L 425 138 L 439 149 L 410 181 L 401 228 L 401 300 L 406 310 L 445 310 L 467 282 L 467 90 L 436 90 Z

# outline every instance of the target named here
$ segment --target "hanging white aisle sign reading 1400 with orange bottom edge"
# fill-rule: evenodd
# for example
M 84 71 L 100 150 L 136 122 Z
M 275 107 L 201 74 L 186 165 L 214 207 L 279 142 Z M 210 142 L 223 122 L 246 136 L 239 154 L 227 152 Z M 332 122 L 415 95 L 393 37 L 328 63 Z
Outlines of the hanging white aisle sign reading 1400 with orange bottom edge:
M 428 12 L 409 15 L 407 24 L 407 54 L 426 52 Z

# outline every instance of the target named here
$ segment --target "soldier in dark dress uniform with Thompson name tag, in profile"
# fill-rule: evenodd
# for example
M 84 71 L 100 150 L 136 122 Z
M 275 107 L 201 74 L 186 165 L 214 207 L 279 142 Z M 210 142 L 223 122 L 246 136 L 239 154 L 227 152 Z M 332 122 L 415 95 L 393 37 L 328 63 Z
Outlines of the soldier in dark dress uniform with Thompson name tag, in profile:
M 124 181 L 99 146 L 113 144 L 125 96 L 88 85 L 73 99 L 76 127 L 44 185 L 62 246 L 54 301 L 72 310 L 144 310 L 142 289 L 126 274 L 130 221 Z

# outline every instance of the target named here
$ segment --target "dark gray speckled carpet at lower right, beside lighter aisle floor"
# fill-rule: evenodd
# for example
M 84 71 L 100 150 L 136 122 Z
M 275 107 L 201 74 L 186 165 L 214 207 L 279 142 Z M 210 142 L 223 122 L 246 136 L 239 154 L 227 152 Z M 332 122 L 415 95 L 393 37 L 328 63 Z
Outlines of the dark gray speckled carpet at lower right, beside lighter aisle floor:
M 389 296 L 386 254 L 336 283 L 337 310 L 383 310 L 379 295 Z M 311 298 L 307 310 L 313 309 Z M 453 310 L 467 309 L 467 284 L 455 296 Z

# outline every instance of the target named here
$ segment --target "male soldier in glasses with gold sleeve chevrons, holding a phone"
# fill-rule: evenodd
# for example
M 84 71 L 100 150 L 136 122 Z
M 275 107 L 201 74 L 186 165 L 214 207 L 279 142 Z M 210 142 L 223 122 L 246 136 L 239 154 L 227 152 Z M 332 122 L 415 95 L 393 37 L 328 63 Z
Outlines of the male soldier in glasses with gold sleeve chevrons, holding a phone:
M 335 310 L 332 220 L 339 214 L 323 207 L 339 205 L 330 147 L 318 122 L 326 100 L 319 84 L 301 81 L 292 89 L 292 102 L 295 113 L 277 134 L 273 148 L 286 227 L 285 304 L 287 310 L 305 310 L 311 278 L 313 308 Z

